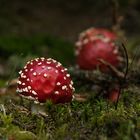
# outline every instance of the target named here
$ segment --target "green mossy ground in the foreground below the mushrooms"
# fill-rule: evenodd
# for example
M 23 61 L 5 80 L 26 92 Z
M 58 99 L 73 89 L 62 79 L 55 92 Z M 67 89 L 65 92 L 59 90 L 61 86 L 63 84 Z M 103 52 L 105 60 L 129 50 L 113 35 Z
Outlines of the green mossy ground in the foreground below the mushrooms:
M 140 102 L 133 94 L 128 106 L 124 101 L 129 98 L 128 93 L 123 94 L 117 110 L 105 100 L 65 105 L 47 102 L 45 116 L 32 114 L 29 102 L 22 106 L 13 99 L 11 104 L 4 105 L 6 114 L 1 110 L 0 133 L 3 138 L 12 135 L 17 139 L 20 136 L 21 140 L 140 138 Z

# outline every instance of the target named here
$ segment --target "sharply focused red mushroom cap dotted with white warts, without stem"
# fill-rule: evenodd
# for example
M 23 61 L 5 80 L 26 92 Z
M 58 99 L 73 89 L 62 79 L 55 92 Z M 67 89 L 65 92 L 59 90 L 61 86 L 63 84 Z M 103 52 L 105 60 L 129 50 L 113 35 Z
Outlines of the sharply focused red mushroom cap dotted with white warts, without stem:
M 17 92 L 35 103 L 51 100 L 53 103 L 70 102 L 73 82 L 67 69 L 54 59 L 36 58 L 27 62 L 19 72 Z

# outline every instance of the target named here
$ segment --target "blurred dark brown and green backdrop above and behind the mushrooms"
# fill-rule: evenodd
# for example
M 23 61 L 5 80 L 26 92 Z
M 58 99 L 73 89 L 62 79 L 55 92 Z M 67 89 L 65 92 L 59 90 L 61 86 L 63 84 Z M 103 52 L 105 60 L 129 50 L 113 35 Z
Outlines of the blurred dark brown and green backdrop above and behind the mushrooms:
M 0 77 L 39 56 L 75 64 L 78 34 L 89 27 L 112 29 L 118 24 L 114 11 L 128 48 L 138 47 L 139 0 L 1 0 Z

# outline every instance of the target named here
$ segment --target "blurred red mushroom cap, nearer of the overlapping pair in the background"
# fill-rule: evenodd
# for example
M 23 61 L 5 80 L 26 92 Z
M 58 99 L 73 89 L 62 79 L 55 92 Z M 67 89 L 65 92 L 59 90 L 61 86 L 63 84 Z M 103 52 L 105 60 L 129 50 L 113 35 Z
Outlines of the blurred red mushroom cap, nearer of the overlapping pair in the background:
M 119 48 L 112 42 L 105 42 L 97 39 L 82 44 L 78 50 L 77 64 L 84 70 L 100 69 L 103 72 L 108 71 L 108 67 L 101 63 L 102 59 L 114 67 L 119 67 L 121 64 Z

